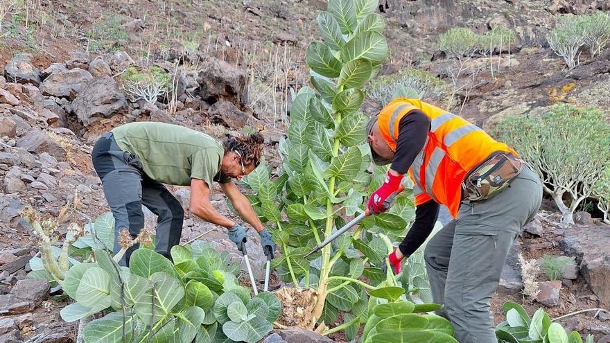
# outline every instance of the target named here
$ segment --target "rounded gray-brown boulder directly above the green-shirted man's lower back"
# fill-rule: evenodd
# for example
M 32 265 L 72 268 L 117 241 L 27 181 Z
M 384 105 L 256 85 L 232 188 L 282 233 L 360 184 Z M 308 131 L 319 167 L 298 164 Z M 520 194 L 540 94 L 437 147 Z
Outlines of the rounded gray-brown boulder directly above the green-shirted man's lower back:
M 123 114 L 127 110 L 127 100 L 113 78 L 99 76 L 82 88 L 71 109 L 82 125 L 89 126 L 101 118 Z

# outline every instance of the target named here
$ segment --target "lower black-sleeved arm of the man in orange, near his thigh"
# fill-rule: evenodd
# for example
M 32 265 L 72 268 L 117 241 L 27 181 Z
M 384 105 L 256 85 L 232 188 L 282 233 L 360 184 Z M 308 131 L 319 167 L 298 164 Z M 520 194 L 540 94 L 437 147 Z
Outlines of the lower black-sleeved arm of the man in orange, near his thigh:
M 417 248 L 424 244 L 426 238 L 430 236 L 434 229 L 438 211 L 439 204 L 434 202 L 434 200 L 429 200 L 417 206 L 417 209 L 415 209 L 415 222 L 413 222 L 407 236 L 399 245 L 401 254 L 409 257 Z

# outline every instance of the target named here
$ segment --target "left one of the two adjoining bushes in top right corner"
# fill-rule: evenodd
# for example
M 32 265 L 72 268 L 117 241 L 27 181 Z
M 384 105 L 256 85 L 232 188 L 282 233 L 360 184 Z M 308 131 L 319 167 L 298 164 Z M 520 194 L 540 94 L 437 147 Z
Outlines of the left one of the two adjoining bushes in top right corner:
M 584 45 L 584 26 L 579 17 L 566 16 L 559 18 L 559 23 L 546 37 L 550 48 L 573 69 L 580 63 L 577 59 L 580 47 Z

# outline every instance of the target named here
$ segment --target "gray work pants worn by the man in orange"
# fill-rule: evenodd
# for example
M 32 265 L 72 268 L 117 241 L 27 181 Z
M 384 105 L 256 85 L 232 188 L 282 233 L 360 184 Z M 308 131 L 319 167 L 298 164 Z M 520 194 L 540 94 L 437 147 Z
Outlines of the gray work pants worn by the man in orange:
M 462 202 L 449 222 L 424 250 L 439 315 L 451 321 L 460 343 L 496 343 L 489 300 L 498 288 L 508 251 L 538 212 L 542 184 L 523 166 L 509 187 L 483 202 Z

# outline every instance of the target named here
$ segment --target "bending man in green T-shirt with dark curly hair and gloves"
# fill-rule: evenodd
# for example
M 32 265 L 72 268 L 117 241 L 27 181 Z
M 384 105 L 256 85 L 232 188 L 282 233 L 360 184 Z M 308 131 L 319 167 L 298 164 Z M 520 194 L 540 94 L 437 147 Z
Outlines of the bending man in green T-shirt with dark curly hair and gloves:
M 119 252 L 119 233 L 128 229 L 135 238 L 144 227 L 142 205 L 158 216 L 155 250 L 171 258 L 180 243 L 184 209 L 163 184 L 191 186 L 190 209 L 195 216 L 229 229 L 241 251 L 246 234 L 241 225 L 218 213 L 209 195 L 212 181 L 243 220 L 261 236 L 263 251 L 273 256 L 275 244 L 252 205 L 232 182 L 251 173 L 261 161 L 260 134 L 231 137 L 222 145 L 207 134 L 166 123 L 129 123 L 106 132 L 92 151 L 96 173 L 114 216 L 114 253 Z M 130 247 L 121 265 L 128 265 Z

